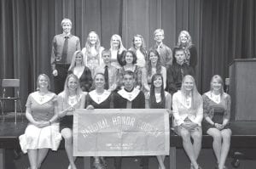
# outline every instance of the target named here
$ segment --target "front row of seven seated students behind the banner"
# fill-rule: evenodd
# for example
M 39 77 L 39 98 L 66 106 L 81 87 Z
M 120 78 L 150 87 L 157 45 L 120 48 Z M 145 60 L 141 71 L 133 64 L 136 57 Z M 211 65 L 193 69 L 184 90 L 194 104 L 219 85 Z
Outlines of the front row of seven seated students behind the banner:
M 173 114 L 175 132 L 183 138 L 183 148 L 191 161 L 190 169 L 201 169 L 197 158 L 201 150 L 203 131 L 213 138 L 212 147 L 217 158 L 218 169 L 224 163 L 230 149 L 231 130 L 230 96 L 224 93 L 220 76 L 213 76 L 209 92 L 198 93 L 193 76 L 184 76 L 181 89 L 173 96 L 164 90 L 164 80 L 160 73 L 151 80 L 150 93 L 143 93 L 135 86 L 135 76 L 126 70 L 124 87 L 117 92 L 106 90 L 105 76 L 96 73 L 94 90 L 84 93 L 79 78 L 67 76 L 64 91 L 58 96 L 49 91 L 49 77 L 38 76 L 38 91 L 31 93 L 26 102 L 26 118 L 29 121 L 25 134 L 20 136 L 20 147 L 27 152 L 31 169 L 40 168 L 49 149 L 57 150 L 61 136 L 65 139 L 65 149 L 69 160 L 68 169 L 77 169 L 73 157 L 73 110 L 75 109 L 167 109 Z M 171 111 L 172 107 L 172 111 Z M 67 115 L 71 114 L 71 115 Z M 201 121 L 203 120 L 203 127 Z M 59 127 L 60 124 L 60 127 Z M 61 133 L 60 133 L 60 132 Z M 193 144 L 191 139 L 193 138 Z M 143 168 L 148 168 L 148 157 L 142 157 Z M 157 156 L 159 168 L 165 169 L 165 156 Z M 97 169 L 107 168 L 103 157 L 95 157 Z M 115 158 L 115 167 L 121 168 L 121 157 Z

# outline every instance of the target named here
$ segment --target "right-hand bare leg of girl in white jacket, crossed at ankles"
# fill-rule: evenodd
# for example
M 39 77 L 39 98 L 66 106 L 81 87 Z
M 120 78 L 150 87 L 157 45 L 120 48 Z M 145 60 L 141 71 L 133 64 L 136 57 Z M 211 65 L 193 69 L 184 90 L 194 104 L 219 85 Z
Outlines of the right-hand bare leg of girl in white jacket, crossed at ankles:
M 201 151 L 201 127 L 198 131 L 195 132 L 191 132 L 191 137 L 194 140 L 194 144 L 193 144 L 193 149 L 194 149 L 194 154 L 195 154 L 195 161 L 198 158 L 198 155 L 200 154 Z

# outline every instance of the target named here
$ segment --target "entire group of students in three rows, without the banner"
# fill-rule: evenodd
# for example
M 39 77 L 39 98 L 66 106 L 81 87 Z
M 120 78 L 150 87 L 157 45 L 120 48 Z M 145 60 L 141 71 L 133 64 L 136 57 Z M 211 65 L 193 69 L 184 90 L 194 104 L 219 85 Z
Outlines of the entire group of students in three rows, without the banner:
M 174 131 L 183 138 L 190 169 L 201 168 L 197 158 L 202 130 L 213 138 L 216 168 L 226 168 L 231 136 L 230 96 L 224 93 L 224 83 L 218 75 L 212 76 L 209 92 L 202 96 L 198 93 L 193 77 L 196 48 L 188 31 L 180 33 L 173 53 L 163 44 L 161 29 L 154 31 L 156 43 L 149 50 L 140 35 L 133 37 L 128 50 L 121 37 L 113 35 L 110 49 L 104 49 L 95 31 L 89 33 L 85 48 L 80 50 L 79 37 L 70 34 L 71 20 L 64 19 L 61 25 L 63 33 L 54 37 L 51 55 L 58 95 L 49 92 L 49 76 L 41 74 L 38 91 L 31 93 L 26 102 L 29 124 L 20 136 L 20 147 L 28 153 L 31 169 L 40 168 L 49 149 L 56 150 L 61 138 L 65 139 L 68 169 L 76 169 L 73 111 L 111 108 L 168 110 Z M 107 168 L 103 157 L 94 159 L 95 168 Z M 159 168 L 165 169 L 165 156 L 159 155 L 157 160 Z M 116 157 L 114 163 L 120 169 L 121 157 Z M 142 166 L 148 168 L 147 157 L 142 157 Z

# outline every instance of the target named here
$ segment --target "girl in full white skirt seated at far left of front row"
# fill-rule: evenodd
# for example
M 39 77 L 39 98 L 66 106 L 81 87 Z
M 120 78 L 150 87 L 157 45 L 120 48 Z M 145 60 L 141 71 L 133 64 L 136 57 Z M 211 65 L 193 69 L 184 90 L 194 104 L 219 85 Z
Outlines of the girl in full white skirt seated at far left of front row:
M 40 168 L 49 149 L 57 150 L 61 142 L 57 119 L 57 99 L 49 91 L 49 76 L 38 76 L 38 91 L 30 93 L 26 101 L 26 131 L 20 138 L 20 147 L 27 152 L 31 169 Z

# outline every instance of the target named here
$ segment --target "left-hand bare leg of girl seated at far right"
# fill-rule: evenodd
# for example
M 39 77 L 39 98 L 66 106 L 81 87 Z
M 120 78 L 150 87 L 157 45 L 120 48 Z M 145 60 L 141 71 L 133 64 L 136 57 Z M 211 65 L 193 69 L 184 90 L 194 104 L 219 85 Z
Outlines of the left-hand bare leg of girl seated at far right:
M 217 128 L 209 128 L 207 130 L 207 134 L 209 134 L 213 138 L 212 148 L 217 158 L 217 163 L 219 164 L 222 143 L 221 132 Z

